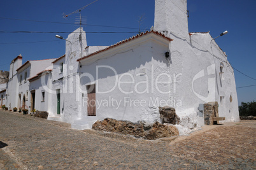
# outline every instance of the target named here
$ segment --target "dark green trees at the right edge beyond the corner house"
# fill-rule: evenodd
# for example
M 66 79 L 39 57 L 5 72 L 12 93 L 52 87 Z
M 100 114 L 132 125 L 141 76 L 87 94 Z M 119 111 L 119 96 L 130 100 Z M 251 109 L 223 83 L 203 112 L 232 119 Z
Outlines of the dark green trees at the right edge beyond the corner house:
M 241 102 L 241 106 L 239 106 L 239 116 L 240 117 L 248 117 L 253 116 L 256 117 L 256 102 Z

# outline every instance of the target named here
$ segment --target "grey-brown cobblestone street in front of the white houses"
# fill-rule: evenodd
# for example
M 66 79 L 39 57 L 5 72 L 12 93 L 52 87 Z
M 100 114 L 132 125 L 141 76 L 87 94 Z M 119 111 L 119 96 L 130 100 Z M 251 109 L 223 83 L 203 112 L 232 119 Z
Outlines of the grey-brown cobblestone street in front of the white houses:
M 256 169 L 255 128 L 244 120 L 146 141 L 0 110 L 0 169 Z

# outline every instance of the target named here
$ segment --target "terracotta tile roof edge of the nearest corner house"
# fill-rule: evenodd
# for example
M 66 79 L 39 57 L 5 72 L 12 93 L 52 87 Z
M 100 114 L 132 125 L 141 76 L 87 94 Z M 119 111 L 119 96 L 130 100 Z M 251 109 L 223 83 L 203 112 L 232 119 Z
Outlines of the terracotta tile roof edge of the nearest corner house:
M 99 51 L 97 51 L 97 52 L 90 53 L 89 55 L 87 55 L 87 56 L 85 56 L 85 57 L 82 57 L 82 58 L 80 58 L 80 59 L 78 59 L 78 60 L 76 60 L 76 61 L 80 61 L 80 60 L 86 59 L 86 58 L 88 58 L 88 57 L 91 57 L 92 55 L 96 55 L 97 53 L 101 53 L 101 52 L 104 52 L 104 51 L 109 50 L 109 49 L 111 49 L 111 48 L 114 48 L 114 47 L 116 47 L 116 46 L 118 46 L 118 45 L 122 45 L 122 44 L 124 44 L 124 43 L 127 43 L 128 41 L 131 41 L 132 39 L 136 39 L 136 38 L 139 38 L 139 37 L 141 37 L 141 36 L 145 36 L 146 34 L 157 34 L 157 35 L 159 35 L 159 36 L 162 36 L 162 38 L 167 39 L 168 41 L 173 41 L 173 39 L 171 39 L 171 38 L 165 36 L 162 32 L 157 32 L 157 31 L 141 32 L 141 34 L 137 34 L 136 36 L 132 36 L 132 37 L 129 38 L 129 39 L 124 39 L 123 41 L 119 41 L 118 43 L 116 43 L 116 44 L 114 44 L 114 45 L 111 45 L 111 46 L 108 46 L 107 48 L 105 48 L 105 49 L 103 49 L 103 50 L 99 50 Z

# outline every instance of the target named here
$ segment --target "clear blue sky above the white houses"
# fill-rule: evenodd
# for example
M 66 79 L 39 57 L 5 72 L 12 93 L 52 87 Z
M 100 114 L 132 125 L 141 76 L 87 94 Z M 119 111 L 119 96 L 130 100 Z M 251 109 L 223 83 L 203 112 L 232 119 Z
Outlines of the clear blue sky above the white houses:
M 41 31 L 41 32 L 72 32 L 75 18 L 79 13 L 70 15 L 67 19 L 62 13 L 72 13 L 94 0 L 1 0 L 0 1 L 0 31 Z M 232 66 L 248 76 L 256 79 L 256 1 L 255 0 L 188 0 L 188 30 L 189 32 L 207 32 L 213 38 L 223 31 L 228 34 L 216 39 L 216 42 L 228 55 Z M 83 29 L 86 32 L 133 32 L 139 31 L 138 18 L 144 15 L 141 23 L 142 31 L 153 25 L 153 0 L 99 0 L 82 10 L 82 16 L 87 17 Z M 17 18 L 10 20 L 4 18 Z M 55 24 L 47 22 L 31 22 L 38 20 L 47 22 L 62 22 Z M 91 25 L 109 25 L 102 27 Z M 124 29 L 116 27 L 129 27 Z M 65 42 L 55 38 L 57 33 L 0 33 L 0 70 L 9 71 L 12 59 L 20 53 L 26 60 L 52 59 L 65 53 Z M 58 33 L 64 38 L 68 33 Z M 129 38 L 136 33 L 95 34 L 87 33 L 87 45 L 112 45 Z M 42 42 L 43 41 L 43 42 Z M 256 81 L 235 71 L 236 87 L 255 85 Z M 241 101 L 256 101 L 256 86 L 237 89 L 239 104 Z

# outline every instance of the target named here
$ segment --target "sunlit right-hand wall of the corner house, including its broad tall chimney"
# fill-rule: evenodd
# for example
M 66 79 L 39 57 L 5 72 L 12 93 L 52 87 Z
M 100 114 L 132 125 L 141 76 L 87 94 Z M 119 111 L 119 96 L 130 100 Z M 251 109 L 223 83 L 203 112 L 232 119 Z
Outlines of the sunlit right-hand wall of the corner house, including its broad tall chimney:
M 182 129 L 186 129 L 184 134 L 187 134 L 190 129 L 204 125 L 203 118 L 197 115 L 198 104 L 210 101 L 220 103 L 222 95 L 225 96 L 223 101 L 225 105 L 220 106 L 220 117 L 226 117 L 227 122 L 239 121 L 231 66 L 225 73 L 227 80 L 220 85 L 220 60 L 228 63 L 227 58 L 210 34 L 188 35 L 186 11 L 187 1 L 185 0 L 155 0 L 154 30 L 165 32 L 166 36 L 174 39 L 169 48 L 170 73 L 182 74 L 178 80 L 180 83 L 176 85 L 176 92 L 170 95 L 182 101 L 182 106 L 175 109 L 181 118 Z M 229 101 L 231 94 L 232 103 Z

